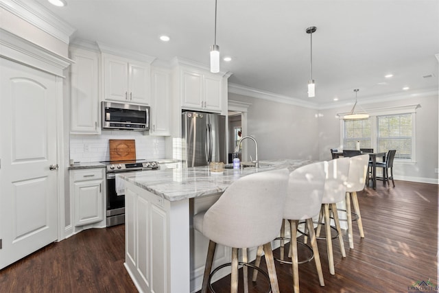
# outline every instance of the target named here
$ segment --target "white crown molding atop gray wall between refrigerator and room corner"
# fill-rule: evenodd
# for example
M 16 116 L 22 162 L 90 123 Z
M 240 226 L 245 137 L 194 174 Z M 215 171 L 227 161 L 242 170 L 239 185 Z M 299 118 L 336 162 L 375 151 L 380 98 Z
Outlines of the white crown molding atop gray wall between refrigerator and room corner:
M 259 89 L 253 89 L 248 86 L 241 86 L 239 84 L 228 84 L 228 92 L 236 93 L 237 95 L 246 95 L 249 97 L 256 97 L 258 99 L 267 99 L 273 102 L 279 102 L 283 104 L 290 104 L 305 108 L 318 109 L 318 104 L 314 102 L 303 101 L 295 97 L 287 97 L 285 95 L 278 95 L 276 93 L 270 93 L 268 91 L 261 91 Z

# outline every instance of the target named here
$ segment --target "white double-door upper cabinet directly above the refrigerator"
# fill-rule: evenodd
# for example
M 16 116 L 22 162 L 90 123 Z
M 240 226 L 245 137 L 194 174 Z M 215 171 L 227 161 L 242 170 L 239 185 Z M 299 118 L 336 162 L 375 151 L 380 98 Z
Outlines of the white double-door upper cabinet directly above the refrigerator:
M 182 108 L 222 111 L 222 77 L 198 69 L 180 71 Z

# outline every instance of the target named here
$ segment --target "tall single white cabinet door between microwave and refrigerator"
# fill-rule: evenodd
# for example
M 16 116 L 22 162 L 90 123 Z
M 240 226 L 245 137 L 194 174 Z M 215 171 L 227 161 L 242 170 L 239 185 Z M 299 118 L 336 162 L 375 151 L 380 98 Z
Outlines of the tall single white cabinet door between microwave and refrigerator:
M 152 123 L 150 134 L 169 135 L 171 115 L 169 95 L 169 73 L 152 70 L 152 99 L 151 116 Z

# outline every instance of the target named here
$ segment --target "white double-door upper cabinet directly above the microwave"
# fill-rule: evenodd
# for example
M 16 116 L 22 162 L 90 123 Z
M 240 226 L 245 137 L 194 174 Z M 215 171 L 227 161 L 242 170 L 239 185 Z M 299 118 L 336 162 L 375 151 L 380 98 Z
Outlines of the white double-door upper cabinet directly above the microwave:
M 102 67 L 103 100 L 150 104 L 149 64 L 103 53 Z

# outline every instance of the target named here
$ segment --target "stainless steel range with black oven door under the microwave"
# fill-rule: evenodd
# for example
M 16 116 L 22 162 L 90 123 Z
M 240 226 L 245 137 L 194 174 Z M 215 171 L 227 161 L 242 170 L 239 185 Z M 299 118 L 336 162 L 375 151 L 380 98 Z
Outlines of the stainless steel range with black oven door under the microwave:
M 116 174 L 120 172 L 137 172 L 158 169 L 156 161 L 104 161 L 106 164 L 107 184 L 107 227 L 125 223 L 125 194 L 116 189 Z

